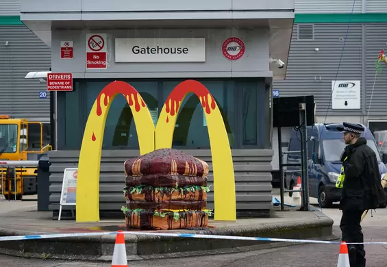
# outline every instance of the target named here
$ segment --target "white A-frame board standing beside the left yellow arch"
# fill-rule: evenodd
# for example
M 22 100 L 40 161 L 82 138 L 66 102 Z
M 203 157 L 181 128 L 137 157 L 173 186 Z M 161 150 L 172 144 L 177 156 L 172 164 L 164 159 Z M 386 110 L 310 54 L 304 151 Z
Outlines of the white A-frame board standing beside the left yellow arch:
M 75 205 L 77 196 L 78 168 L 65 168 L 62 181 L 62 192 L 60 193 L 60 208 L 58 220 L 62 215 L 63 205 Z

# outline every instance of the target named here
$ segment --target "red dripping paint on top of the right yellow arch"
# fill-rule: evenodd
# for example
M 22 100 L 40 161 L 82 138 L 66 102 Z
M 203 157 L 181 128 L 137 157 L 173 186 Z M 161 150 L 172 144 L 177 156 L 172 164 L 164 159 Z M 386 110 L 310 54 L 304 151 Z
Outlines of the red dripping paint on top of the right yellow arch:
M 203 107 L 203 110 L 205 110 L 205 113 L 210 114 L 211 110 L 215 110 L 216 103 L 214 97 L 212 97 L 212 94 L 208 91 L 203 84 L 199 83 L 199 81 L 194 80 L 187 80 L 183 81 L 182 83 L 178 84 L 169 94 L 168 98 L 165 101 L 165 111 L 167 114 L 170 114 L 171 116 L 174 116 L 179 112 L 179 106 L 181 101 L 183 101 L 186 94 L 189 92 L 193 92 L 194 94 L 199 97 L 201 100 L 201 106 Z M 211 105 L 209 103 L 209 100 L 211 100 Z M 166 122 L 168 123 L 168 117 Z

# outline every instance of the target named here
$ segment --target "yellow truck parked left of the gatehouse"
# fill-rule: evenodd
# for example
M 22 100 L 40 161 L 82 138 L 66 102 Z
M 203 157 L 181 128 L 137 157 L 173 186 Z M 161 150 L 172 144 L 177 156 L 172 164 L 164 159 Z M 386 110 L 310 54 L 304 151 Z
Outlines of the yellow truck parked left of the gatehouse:
M 38 154 L 52 150 L 43 139 L 42 123 L 0 115 L 0 163 L 3 163 L 0 177 L 5 199 L 20 200 L 25 194 L 37 194 L 37 167 L 23 166 L 23 161 L 36 161 Z M 21 164 L 4 167 L 9 161 L 20 161 Z

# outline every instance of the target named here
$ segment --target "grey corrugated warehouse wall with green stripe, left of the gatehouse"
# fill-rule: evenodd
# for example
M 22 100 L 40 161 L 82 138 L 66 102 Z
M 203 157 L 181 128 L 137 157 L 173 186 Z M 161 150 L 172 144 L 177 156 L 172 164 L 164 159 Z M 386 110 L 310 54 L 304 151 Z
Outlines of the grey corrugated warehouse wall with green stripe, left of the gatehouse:
M 49 93 L 40 94 L 46 84 L 24 77 L 49 71 L 51 49 L 20 21 L 20 2 L 0 0 L 0 114 L 48 125 Z

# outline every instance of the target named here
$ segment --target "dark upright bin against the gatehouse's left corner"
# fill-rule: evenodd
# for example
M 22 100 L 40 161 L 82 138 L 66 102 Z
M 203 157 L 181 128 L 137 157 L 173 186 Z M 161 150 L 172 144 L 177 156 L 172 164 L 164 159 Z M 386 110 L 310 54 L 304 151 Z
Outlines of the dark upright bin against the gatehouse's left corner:
M 47 153 L 38 155 L 38 211 L 48 211 L 50 202 L 50 166 Z

